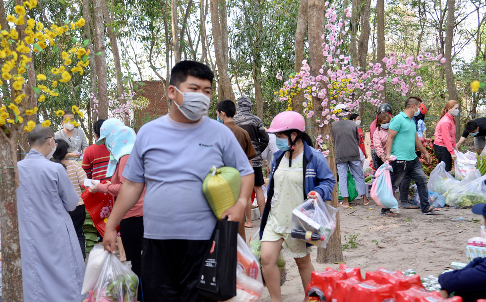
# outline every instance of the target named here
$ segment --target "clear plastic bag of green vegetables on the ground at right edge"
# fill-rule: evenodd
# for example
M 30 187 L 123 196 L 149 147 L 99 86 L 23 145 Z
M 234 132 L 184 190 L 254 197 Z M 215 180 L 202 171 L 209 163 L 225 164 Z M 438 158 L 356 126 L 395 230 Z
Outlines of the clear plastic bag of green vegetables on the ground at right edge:
M 459 208 L 471 208 L 477 203 L 486 203 L 486 175 L 474 180 L 465 179 L 460 186 L 451 190 L 446 204 Z

